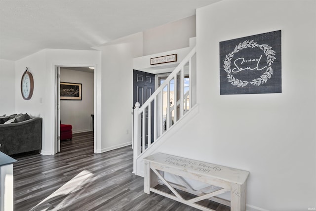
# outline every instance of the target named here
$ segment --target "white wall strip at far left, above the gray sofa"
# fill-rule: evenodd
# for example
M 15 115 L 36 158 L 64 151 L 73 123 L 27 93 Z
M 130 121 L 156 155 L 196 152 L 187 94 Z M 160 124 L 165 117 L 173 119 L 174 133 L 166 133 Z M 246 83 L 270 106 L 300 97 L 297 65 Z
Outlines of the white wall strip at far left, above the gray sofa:
M 15 112 L 15 64 L 14 61 L 0 59 L 0 116 Z M 22 75 L 21 75 L 22 77 Z

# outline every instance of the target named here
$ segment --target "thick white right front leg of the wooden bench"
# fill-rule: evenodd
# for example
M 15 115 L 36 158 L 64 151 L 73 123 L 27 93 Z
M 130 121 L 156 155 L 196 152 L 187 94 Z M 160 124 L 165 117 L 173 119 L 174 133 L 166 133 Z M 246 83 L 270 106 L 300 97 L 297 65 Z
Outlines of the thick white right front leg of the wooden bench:
M 246 210 L 246 184 L 232 184 L 231 211 Z

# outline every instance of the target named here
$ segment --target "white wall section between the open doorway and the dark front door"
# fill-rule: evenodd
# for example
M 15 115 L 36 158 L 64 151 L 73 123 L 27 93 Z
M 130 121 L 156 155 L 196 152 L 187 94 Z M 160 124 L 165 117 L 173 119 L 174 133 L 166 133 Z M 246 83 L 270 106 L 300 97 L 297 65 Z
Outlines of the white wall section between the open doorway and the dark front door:
M 97 48 L 102 51 L 101 152 L 131 144 L 133 58 L 142 55 L 142 47 L 138 33 Z

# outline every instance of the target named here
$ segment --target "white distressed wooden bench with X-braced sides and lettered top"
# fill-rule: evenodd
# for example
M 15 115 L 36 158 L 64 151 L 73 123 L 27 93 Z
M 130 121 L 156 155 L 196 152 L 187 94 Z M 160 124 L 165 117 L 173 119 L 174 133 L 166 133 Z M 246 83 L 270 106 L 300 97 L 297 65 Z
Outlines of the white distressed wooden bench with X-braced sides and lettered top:
M 155 192 L 175 201 L 184 203 L 202 211 L 212 211 L 197 204 L 198 201 L 211 199 L 216 201 L 216 196 L 225 192 L 231 192 L 230 203 L 222 203 L 231 206 L 231 211 L 245 211 L 246 204 L 246 179 L 248 171 L 233 169 L 215 164 L 200 162 L 173 155 L 157 153 L 144 158 L 144 192 L 150 194 Z M 167 181 L 163 172 L 175 175 L 181 184 Z M 208 188 L 195 190 L 183 178 L 189 178 L 209 184 Z M 168 194 L 155 188 L 158 185 L 158 178 L 172 191 Z M 214 186 L 217 188 L 214 189 Z M 176 189 L 184 190 L 197 195 L 197 197 L 185 200 Z M 221 203 L 221 201 L 218 201 Z

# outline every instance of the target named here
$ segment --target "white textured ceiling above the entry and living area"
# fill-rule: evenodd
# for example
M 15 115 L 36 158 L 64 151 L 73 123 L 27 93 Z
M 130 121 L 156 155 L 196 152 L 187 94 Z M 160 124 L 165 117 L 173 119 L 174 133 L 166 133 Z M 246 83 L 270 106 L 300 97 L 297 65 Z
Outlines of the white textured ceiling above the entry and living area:
M 44 48 L 91 50 L 196 14 L 219 0 L 0 0 L 0 59 Z

